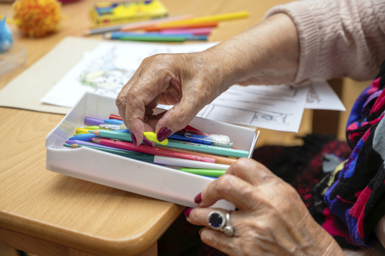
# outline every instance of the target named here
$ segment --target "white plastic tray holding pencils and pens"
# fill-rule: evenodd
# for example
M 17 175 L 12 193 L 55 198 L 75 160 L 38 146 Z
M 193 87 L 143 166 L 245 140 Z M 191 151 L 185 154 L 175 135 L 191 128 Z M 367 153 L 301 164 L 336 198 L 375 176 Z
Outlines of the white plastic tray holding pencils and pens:
M 158 110 L 160 111 L 163 110 Z M 202 192 L 213 178 L 86 147 L 69 149 L 63 146 L 75 133 L 76 127 L 84 127 L 85 116 L 106 119 L 110 114 L 118 114 L 114 98 L 85 93 L 47 135 L 47 170 L 179 205 L 196 207 L 194 197 Z M 253 129 L 209 119 L 196 117 L 190 125 L 205 132 L 229 135 L 234 147 L 248 150 L 249 157 L 253 154 L 258 139 Z M 213 207 L 234 209 L 234 205 L 226 200 L 219 200 Z

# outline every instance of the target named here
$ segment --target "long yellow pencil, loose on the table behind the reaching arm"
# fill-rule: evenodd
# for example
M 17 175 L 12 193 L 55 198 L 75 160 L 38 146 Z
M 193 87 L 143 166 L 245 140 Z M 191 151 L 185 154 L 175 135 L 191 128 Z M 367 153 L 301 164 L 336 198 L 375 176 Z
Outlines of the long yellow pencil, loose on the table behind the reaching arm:
M 248 16 L 249 16 L 249 12 L 247 12 L 247 11 L 223 13 L 223 14 L 217 14 L 217 15 L 209 15 L 209 16 L 204 16 L 204 17 L 192 18 L 192 19 L 188 19 L 188 20 L 164 22 L 164 23 L 158 24 L 157 26 L 167 27 L 167 26 L 186 25 L 186 24 L 192 24 L 192 23 L 233 20 L 233 19 L 238 19 L 238 18 L 246 18 Z

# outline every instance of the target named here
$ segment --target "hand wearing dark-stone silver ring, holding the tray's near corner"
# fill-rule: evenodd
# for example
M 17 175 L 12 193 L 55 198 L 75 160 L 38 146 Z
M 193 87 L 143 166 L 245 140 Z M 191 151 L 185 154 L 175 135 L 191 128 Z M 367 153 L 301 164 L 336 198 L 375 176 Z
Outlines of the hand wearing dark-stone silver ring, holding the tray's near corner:
M 264 165 L 240 159 L 226 174 L 210 183 L 195 201 L 199 208 L 187 208 L 187 221 L 208 225 L 206 208 L 219 199 L 232 202 L 234 236 L 204 228 L 204 243 L 229 255 L 344 255 L 336 241 L 312 218 L 300 196 L 288 183 Z

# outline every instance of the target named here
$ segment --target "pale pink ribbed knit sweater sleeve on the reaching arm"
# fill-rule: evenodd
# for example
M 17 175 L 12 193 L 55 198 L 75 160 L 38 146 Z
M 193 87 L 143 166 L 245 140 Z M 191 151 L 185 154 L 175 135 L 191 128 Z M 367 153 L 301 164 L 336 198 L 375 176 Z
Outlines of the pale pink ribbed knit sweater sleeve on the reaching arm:
M 385 60 L 384 0 L 304 0 L 278 5 L 265 17 L 286 13 L 300 40 L 294 83 L 309 78 L 373 79 Z

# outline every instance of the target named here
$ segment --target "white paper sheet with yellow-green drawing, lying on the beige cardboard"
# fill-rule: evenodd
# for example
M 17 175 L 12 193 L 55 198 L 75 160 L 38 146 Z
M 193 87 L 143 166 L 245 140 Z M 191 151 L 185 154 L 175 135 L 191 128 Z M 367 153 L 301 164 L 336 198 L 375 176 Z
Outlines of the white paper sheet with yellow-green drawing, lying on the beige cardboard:
M 77 63 L 41 99 L 47 104 L 72 107 L 84 92 L 116 97 L 142 60 L 157 53 L 203 51 L 216 43 L 162 45 L 103 42 Z

